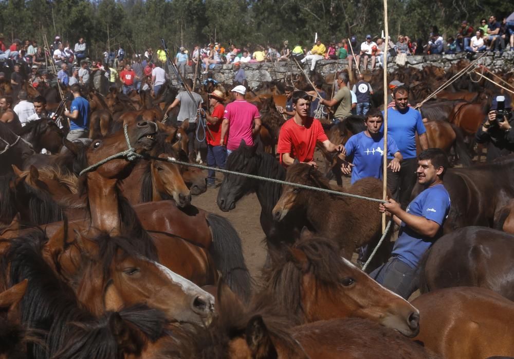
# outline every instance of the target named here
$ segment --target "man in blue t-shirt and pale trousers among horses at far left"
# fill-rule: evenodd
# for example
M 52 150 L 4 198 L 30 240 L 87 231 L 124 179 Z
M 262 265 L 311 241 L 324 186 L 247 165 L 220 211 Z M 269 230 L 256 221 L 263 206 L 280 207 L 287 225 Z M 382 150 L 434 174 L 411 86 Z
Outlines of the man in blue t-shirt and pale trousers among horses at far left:
M 69 111 L 64 111 L 64 115 L 70 119 L 69 133 L 66 136 L 68 141 L 85 137 L 89 128 L 89 101 L 82 97 L 80 93 L 79 84 L 71 85 L 71 93 L 73 94 L 73 101 Z

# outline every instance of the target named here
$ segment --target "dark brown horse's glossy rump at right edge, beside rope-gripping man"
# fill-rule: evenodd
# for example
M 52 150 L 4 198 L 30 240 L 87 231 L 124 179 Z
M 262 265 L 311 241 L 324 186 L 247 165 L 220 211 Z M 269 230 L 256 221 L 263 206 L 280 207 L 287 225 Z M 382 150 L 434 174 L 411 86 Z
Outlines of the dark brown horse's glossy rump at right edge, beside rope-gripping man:
M 514 235 L 487 227 L 464 227 L 440 237 L 423 260 L 423 292 L 482 287 L 514 300 Z

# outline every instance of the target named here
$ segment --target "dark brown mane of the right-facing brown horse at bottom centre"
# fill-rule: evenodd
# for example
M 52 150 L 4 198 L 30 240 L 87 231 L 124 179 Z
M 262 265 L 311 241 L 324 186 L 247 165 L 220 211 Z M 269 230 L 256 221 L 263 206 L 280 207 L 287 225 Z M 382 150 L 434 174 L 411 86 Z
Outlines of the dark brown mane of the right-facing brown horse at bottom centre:
M 342 262 L 339 248 L 336 243 L 327 238 L 301 238 L 292 248 L 302 251 L 308 265 L 302 267 L 295 262 L 287 247 L 274 255 L 272 267 L 265 267 L 262 271 L 263 290 L 257 296 L 257 301 L 268 301 L 275 298 L 280 312 L 290 315 L 296 324 L 304 322 L 304 313 L 301 305 L 301 283 L 305 273 L 313 274 L 320 283 L 338 283 L 338 268 Z M 276 258 L 275 258 L 276 257 Z

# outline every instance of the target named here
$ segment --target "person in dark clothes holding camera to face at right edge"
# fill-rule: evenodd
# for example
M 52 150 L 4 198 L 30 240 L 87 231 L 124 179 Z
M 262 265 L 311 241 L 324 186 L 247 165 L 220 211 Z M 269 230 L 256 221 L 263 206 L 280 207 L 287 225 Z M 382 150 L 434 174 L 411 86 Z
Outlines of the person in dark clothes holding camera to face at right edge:
M 496 96 L 482 126 L 476 131 L 477 143 L 489 143 L 487 161 L 514 153 L 514 116 L 510 98 Z

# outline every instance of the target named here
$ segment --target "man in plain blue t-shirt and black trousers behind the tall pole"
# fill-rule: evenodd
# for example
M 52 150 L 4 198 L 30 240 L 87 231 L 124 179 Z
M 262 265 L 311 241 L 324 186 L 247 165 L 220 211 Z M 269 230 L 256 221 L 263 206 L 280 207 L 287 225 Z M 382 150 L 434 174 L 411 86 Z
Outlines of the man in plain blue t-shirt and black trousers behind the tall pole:
M 403 162 L 398 172 L 388 169 L 387 187 L 395 201 L 405 208 L 416 183 L 416 133 L 421 150 L 428 148 L 428 138 L 421 114 L 409 107 L 409 89 L 405 86 L 393 90 L 394 106 L 388 108 L 388 137 L 394 138 Z M 381 131 L 383 132 L 383 126 Z M 388 159 L 393 159 L 388 156 Z

